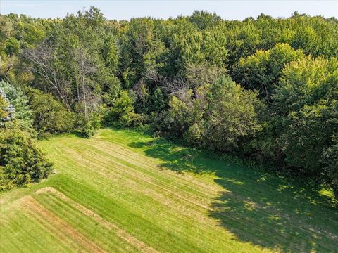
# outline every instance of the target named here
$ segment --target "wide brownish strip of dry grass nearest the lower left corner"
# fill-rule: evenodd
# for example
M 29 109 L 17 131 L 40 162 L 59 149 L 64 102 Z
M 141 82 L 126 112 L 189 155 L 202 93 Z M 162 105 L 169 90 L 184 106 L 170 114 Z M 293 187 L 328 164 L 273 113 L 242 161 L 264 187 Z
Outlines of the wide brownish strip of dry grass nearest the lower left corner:
M 21 198 L 21 203 L 23 207 L 27 209 L 30 213 L 38 214 L 41 218 L 51 224 L 51 231 L 57 233 L 62 239 L 72 238 L 78 242 L 87 252 L 93 253 L 106 253 L 98 245 L 95 245 L 93 242 L 85 238 L 81 233 L 76 231 L 72 226 L 65 223 L 62 219 L 59 219 L 58 216 L 49 212 L 46 208 L 39 204 L 34 197 L 27 195 Z M 53 228 L 52 228 L 53 227 Z

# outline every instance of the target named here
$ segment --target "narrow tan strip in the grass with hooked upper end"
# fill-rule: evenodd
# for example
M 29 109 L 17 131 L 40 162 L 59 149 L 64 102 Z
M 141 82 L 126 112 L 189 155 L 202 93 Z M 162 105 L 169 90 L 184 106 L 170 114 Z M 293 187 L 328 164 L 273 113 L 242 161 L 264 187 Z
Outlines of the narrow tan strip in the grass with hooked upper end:
M 56 196 L 58 196 L 62 200 L 65 200 L 70 205 L 72 205 L 73 207 L 75 207 L 77 210 L 79 210 L 80 212 L 82 212 L 82 214 L 91 217 L 92 219 L 94 219 L 95 221 L 97 221 L 98 223 L 100 223 L 101 225 L 103 225 L 104 227 L 108 228 L 109 230 L 115 231 L 115 233 L 120 238 L 122 238 L 123 240 L 125 240 L 126 242 L 128 242 L 130 245 L 136 247 L 141 252 L 157 253 L 157 251 L 155 249 L 153 249 L 152 247 L 149 247 L 148 245 L 146 245 L 144 242 L 138 240 L 137 238 L 134 238 L 134 236 L 132 236 L 129 233 L 127 233 L 127 231 L 119 228 L 118 226 L 116 226 L 115 224 L 113 224 L 113 223 L 111 223 L 109 221 L 106 221 L 105 219 L 103 219 L 98 214 L 92 212 L 92 210 L 87 209 L 87 207 L 84 207 L 84 206 L 80 205 L 79 203 L 77 203 L 77 202 L 75 202 L 73 200 L 70 200 L 67 196 L 65 196 L 63 193 L 60 193 L 55 188 L 45 187 L 45 188 L 41 188 L 41 189 L 37 190 L 35 193 L 37 193 L 37 194 L 41 194 L 41 193 L 54 193 Z

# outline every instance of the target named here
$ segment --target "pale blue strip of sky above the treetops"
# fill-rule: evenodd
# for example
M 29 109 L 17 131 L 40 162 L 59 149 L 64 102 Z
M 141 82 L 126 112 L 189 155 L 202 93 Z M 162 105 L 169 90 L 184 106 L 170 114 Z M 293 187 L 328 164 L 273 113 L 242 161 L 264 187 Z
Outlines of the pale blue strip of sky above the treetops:
M 191 15 L 194 10 L 215 12 L 227 20 L 256 18 L 260 13 L 274 18 L 287 18 L 294 11 L 307 15 L 323 15 L 338 18 L 338 0 L 223 0 L 223 1 L 55 1 L 55 0 L 0 0 L 0 13 L 25 14 L 35 18 L 63 18 L 82 8 L 98 7 L 108 19 L 130 20 L 137 17 L 175 18 Z

